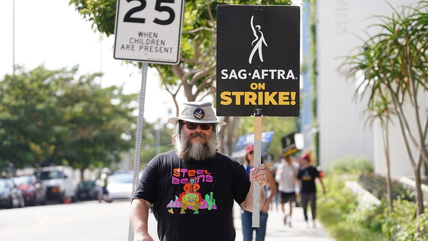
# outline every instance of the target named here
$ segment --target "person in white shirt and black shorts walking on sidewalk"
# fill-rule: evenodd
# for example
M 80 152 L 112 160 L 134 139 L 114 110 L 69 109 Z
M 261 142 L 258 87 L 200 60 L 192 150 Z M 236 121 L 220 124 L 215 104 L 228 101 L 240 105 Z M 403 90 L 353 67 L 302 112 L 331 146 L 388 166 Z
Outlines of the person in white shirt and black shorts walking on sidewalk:
M 293 203 L 296 202 L 296 184 L 299 167 L 294 165 L 290 156 L 282 159 L 277 167 L 275 180 L 278 182 L 280 192 L 281 210 L 284 214 L 284 224 L 291 227 Z M 285 204 L 289 203 L 289 212 L 286 214 Z

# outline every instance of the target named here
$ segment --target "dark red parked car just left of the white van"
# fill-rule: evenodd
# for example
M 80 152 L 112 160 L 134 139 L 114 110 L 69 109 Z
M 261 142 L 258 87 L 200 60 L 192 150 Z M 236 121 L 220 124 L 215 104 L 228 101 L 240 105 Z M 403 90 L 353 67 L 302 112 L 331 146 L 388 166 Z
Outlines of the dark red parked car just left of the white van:
M 13 178 L 18 188 L 22 191 L 25 206 L 46 204 L 47 187 L 34 175 L 24 175 Z

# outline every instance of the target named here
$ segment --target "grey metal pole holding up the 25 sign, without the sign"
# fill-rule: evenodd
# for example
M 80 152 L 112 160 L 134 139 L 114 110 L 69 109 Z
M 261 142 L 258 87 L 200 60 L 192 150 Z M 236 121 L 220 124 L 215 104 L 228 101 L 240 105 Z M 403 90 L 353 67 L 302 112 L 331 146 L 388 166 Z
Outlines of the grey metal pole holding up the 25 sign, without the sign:
M 147 63 L 142 63 L 141 66 L 141 90 L 140 90 L 140 103 L 138 107 L 138 120 L 137 120 L 137 133 L 135 134 L 135 153 L 134 153 L 134 177 L 132 192 L 137 189 L 138 172 L 140 170 L 140 153 L 141 153 L 141 137 L 144 126 L 144 96 L 146 93 L 146 80 L 147 80 Z M 134 239 L 134 232 L 131 222 L 129 222 L 128 241 Z

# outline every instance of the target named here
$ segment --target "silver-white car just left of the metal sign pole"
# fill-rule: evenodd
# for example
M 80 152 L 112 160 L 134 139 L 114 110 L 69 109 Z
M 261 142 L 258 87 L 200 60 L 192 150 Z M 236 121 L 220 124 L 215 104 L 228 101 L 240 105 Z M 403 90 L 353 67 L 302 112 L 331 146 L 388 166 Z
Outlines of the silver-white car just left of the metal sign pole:
M 132 173 L 112 174 L 108 178 L 107 190 L 109 190 L 110 200 L 132 198 Z

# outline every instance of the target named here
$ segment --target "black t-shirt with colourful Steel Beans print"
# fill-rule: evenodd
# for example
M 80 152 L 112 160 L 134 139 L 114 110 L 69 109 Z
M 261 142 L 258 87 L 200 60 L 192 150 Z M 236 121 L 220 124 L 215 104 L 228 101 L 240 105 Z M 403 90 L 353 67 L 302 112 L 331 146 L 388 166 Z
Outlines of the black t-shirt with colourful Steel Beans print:
M 242 203 L 250 188 L 244 166 L 220 153 L 186 162 L 175 152 L 146 165 L 133 197 L 153 204 L 159 239 L 235 240 L 233 202 Z

